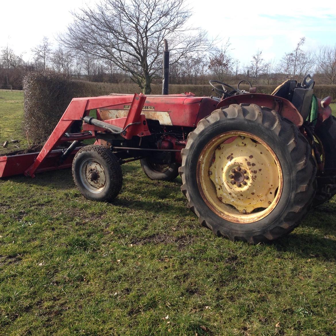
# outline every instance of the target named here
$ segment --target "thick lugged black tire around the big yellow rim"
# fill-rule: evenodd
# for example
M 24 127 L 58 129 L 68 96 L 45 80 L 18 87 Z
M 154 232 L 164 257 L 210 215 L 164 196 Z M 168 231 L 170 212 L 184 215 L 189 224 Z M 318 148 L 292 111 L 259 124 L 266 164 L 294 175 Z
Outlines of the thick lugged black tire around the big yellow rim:
M 203 148 L 215 136 L 230 131 L 253 134 L 274 151 L 284 176 L 283 190 L 275 208 L 255 222 L 239 224 L 213 212 L 204 202 L 197 183 L 197 162 Z M 315 194 L 316 165 L 308 142 L 298 128 L 269 108 L 255 104 L 232 104 L 215 110 L 188 135 L 181 152 L 182 193 L 201 225 L 230 240 L 257 244 L 291 232 L 310 208 Z

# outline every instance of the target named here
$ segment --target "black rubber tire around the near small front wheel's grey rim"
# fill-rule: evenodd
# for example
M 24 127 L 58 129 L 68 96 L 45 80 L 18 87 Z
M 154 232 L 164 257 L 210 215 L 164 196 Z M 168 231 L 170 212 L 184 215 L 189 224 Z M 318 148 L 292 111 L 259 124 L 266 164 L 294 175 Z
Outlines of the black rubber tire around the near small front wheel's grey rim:
M 91 192 L 81 180 L 81 165 L 89 159 L 97 162 L 104 169 L 106 181 L 101 192 Z M 72 163 L 72 176 L 78 190 L 85 198 L 100 202 L 111 202 L 115 199 L 123 183 L 122 171 L 117 157 L 108 148 L 100 145 L 88 145 L 77 152 Z M 86 174 L 83 179 L 88 180 Z

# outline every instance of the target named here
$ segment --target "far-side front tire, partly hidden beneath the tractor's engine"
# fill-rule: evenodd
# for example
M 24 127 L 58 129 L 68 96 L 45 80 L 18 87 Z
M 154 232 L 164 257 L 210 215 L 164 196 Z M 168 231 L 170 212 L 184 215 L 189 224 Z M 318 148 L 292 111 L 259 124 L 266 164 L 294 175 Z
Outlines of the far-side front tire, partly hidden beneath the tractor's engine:
M 140 160 L 140 165 L 143 172 L 151 180 L 172 181 L 178 176 L 178 163 L 167 164 L 167 168 L 161 169 L 159 166 L 153 164 L 150 159 L 145 158 Z

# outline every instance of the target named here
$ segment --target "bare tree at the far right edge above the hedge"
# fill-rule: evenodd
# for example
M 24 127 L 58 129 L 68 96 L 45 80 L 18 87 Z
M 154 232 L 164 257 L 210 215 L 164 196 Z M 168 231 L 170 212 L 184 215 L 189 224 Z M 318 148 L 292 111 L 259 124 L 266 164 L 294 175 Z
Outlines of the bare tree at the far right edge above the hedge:
M 328 78 L 329 84 L 336 81 L 336 44 L 333 47 L 321 46 L 316 54 L 317 72 Z

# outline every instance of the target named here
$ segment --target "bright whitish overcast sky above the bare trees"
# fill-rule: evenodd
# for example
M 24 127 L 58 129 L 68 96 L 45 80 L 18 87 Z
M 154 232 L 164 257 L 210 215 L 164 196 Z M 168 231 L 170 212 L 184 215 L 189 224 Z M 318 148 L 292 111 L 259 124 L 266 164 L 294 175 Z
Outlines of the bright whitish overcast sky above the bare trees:
M 230 38 L 231 55 L 243 64 L 257 50 L 269 61 L 280 59 L 306 37 L 304 48 L 336 44 L 336 2 L 324 1 L 201 1 L 187 0 L 193 11 L 189 24 L 218 36 Z M 31 48 L 44 36 L 55 38 L 72 21 L 70 11 L 94 1 L 45 0 L 2 1 L 0 4 L 0 48 L 8 45 L 28 60 Z M 219 45 L 220 47 L 220 45 Z

